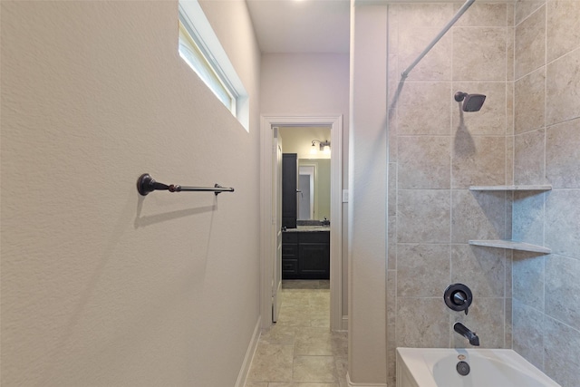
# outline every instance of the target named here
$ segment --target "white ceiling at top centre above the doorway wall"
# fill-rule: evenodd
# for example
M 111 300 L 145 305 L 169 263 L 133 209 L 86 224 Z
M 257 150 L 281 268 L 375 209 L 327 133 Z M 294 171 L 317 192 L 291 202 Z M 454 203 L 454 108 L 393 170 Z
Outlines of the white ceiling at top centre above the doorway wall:
M 349 0 L 246 0 L 262 53 L 348 53 Z

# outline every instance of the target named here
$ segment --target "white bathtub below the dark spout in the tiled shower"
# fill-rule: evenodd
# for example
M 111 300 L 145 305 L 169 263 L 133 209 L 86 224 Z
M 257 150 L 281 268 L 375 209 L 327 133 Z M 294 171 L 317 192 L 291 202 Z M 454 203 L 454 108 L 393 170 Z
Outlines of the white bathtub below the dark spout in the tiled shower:
M 560 385 L 509 349 L 397 348 L 397 387 Z

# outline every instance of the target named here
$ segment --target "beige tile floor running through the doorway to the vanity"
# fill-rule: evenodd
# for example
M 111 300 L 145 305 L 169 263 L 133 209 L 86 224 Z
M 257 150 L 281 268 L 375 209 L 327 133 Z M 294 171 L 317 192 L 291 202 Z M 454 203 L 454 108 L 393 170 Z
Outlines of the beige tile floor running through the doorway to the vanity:
M 246 387 L 345 387 L 347 334 L 330 331 L 329 281 L 282 287 L 278 322 L 260 336 Z

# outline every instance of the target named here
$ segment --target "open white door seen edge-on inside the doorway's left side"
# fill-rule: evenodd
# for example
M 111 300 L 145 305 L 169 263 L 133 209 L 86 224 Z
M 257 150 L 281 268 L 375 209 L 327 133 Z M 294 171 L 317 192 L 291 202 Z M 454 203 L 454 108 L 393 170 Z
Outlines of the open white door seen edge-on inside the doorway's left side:
M 275 262 L 274 273 L 272 276 L 272 321 L 278 321 L 278 314 L 280 314 L 280 306 L 282 305 L 282 138 L 278 132 L 278 128 L 274 127 L 273 143 L 273 175 L 272 181 L 272 213 L 274 214 L 273 227 L 275 235 Z

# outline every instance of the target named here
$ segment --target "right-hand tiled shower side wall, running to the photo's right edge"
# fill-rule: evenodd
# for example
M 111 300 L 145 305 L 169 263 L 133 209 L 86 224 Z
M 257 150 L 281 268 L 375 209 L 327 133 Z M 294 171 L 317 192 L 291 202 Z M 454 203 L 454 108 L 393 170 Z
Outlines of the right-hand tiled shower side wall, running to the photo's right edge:
M 521 1 L 515 12 L 513 348 L 564 387 L 580 380 L 580 2 Z

